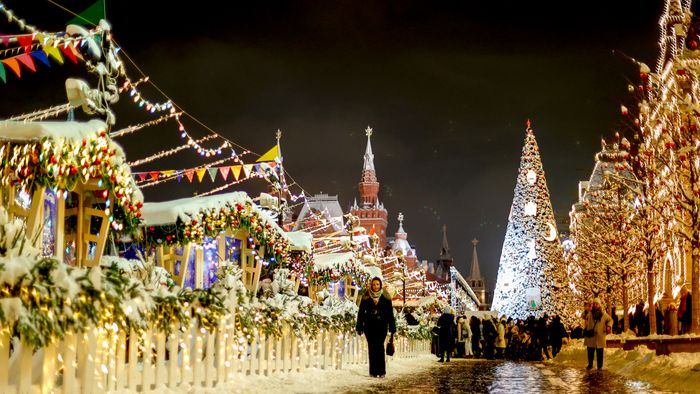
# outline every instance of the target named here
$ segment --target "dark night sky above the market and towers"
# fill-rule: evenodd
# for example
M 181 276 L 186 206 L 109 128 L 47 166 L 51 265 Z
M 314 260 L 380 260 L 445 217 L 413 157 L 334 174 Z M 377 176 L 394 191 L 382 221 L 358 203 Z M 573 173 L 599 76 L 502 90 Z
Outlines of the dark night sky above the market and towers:
M 47 1 L 4 1 L 27 22 L 58 31 L 71 15 Z M 75 11 L 91 1 L 62 1 Z M 434 260 L 441 228 L 468 273 L 472 238 L 491 287 L 532 119 L 560 231 L 601 137 L 623 127 L 638 69 L 613 50 L 656 62 L 662 1 L 107 1 L 124 52 L 175 103 L 258 154 L 283 131 L 285 168 L 310 194 L 357 196 L 364 129 L 389 211 L 420 259 Z M 612 4 L 611 4 L 612 3 Z M 4 19 L 0 33 L 17 32 Z M 81 66 L 39 65 L 0 85 L 0 116 L 65 102 Z M 139 73 L 128 64 L 132 79 Z M 154 100 L 154 89 L 144 88 Z M 117 128 L 152 119 L 125 96 Z M 191 119 L 193 136 L 208 131 Z M 117 140 L 130 160 L 180 144 L 174 123 Z M 248 161 L 251 160 L 249 156 Z M 201 164 L 180 153 L 133 171 Z M 253 181 L 248 190 L 264 187 Z M 148 201 L 222 185 L 145 189 Z

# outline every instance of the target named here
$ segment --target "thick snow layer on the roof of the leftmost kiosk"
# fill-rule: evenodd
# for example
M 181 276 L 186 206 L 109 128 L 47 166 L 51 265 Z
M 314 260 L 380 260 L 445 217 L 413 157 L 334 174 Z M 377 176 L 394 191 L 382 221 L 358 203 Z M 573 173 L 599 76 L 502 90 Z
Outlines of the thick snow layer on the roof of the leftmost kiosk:
M 90 135 L 106 130 L 107 125 L 97 119 L 92 119 L 88 122 L 17 122 L 3 120 L 0 121 L 0 140 L 38 141 L 42 138 L 64 138 L 72 141 L 82 141 Z

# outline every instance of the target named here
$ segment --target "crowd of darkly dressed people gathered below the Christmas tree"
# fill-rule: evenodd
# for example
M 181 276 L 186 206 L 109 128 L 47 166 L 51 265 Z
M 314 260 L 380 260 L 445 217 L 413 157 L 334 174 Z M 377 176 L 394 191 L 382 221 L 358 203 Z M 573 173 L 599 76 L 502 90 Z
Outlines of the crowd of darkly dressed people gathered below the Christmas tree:
M 564 338 L 569 338 L 559 316 L 467 318 L 455 317 L 450 307 L 438 318 L 433 334 L 433 353 L 439 362 L 448 362 L 451 356 L 540 361 L 555 357 Z

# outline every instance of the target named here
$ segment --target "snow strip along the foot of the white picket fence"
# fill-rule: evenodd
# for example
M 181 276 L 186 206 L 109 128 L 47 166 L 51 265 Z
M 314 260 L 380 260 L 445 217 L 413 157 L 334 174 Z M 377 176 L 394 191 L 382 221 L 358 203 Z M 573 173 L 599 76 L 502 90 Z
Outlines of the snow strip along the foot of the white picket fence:
M 435 366 L 435 356 L 421 354 L 415 358 L 388 360 L 385 378 L 369 376 L 367 364 L 346 365 L 342 370 L 323 370 L 310 368 L 304 372 L 280 373 L 271 376 L 249 375 L 241 376 L 219 388 L 204 389 L 180 387 L 178 389 L 159 388 L 157 394 L 179 393 L 330 393 L 349 389 L 361 389 L 377 382 L 401 379 L 407 375 L 426 370 Z M 119 394 L 131 394 L 123 390 Z

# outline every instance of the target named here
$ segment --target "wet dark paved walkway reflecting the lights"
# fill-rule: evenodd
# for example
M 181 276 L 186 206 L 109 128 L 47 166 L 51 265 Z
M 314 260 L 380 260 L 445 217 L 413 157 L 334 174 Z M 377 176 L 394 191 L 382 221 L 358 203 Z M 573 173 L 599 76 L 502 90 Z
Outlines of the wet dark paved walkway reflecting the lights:
M 347 393 L 668 393 L 603 370 L 558 364 L 456 359 Z M 391 368 L 388 368 L 391 374 Z

